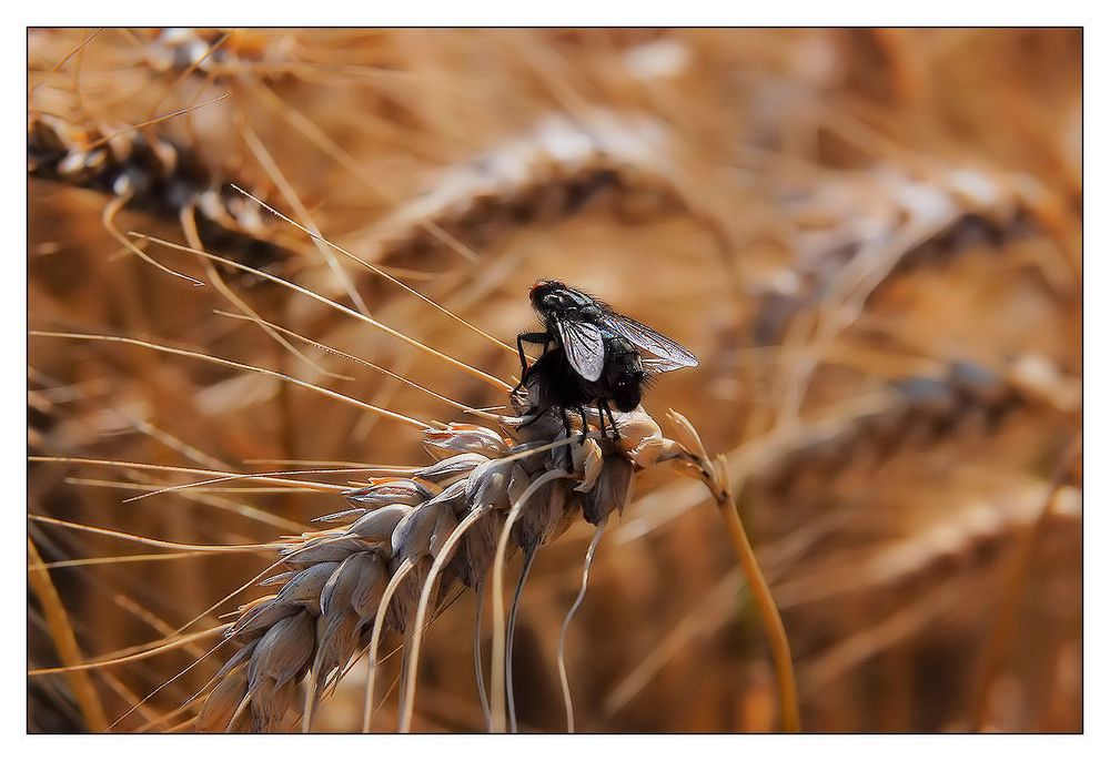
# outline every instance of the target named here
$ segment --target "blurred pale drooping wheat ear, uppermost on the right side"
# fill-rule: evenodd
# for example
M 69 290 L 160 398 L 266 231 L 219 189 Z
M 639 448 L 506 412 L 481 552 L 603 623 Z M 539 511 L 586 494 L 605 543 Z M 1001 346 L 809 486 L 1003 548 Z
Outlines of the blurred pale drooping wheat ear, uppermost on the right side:
M 1026 174 L 951 169 L 919 179 L 882 166 L 839 173 L 787 197 L 785 213 L 799 231 L 791 242 L 796 262 L 757 294 L 760 344 L 781 339 L 790 319 L 827 298 L 841 275 L 877 273 L 874 292 L 978 244 L 998 248 L 1031 234 L 1045 191 Z

